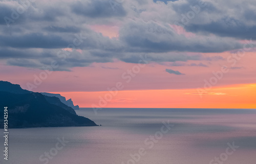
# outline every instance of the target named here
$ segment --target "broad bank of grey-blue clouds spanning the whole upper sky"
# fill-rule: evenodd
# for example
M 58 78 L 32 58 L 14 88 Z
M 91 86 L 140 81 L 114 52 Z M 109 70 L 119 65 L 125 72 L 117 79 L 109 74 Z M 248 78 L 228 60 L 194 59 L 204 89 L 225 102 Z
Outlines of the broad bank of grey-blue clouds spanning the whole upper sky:
M 224 58 L 202 53 L 243 48 L 240 39 L 249 36 L 256 25 L 254 1 L 207 3 L 184 26 L 183 32 L 178 33 L 174 22 L 180 21 L 181 14 L 186 14 L 191 10 L 190 5 L 198 2 L 131 0 L 118 3 L 113 10 L 110 1 L 103 0 L 36 1 L 19 14 L 10 27 L 0 19 L 0 59 L 9 65 L 34 68 L 58 61 L 56 70 L 70 71 L 75 66 L 116 59 L 138 63 L 140 55 L 147 54 L 151 62 L 177 62 L 169 63 L 169 66 L 188 66 L 178 62 L 192 61 L 199 63 L 194 66 L 206 67 L 203 61 Z M 1 1 L 0 17 L 11 18 L 12 12 L 21 4 L 19 1 Z M 231 12 L 234 9 L 241 13 Z M 93 29 L 94 25 L 114 27 L 119 29 L 119 35 L 114 38 L 103 36 Z M 192 32 L 191 35 L 188 36 L 188 32 Z M 63 61 L 57 52 L 66 49 L 80 33 L 87 38 L 76 47 L 80 53 L 73 50 Z

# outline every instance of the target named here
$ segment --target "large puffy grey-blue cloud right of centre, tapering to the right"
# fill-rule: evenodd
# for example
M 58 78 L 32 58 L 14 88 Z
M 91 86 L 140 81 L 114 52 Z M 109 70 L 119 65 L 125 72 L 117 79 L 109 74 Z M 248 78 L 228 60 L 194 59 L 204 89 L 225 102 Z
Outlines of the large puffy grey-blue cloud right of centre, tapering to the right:
M 120 29 L 120 39 L 131 46 L 131 51 L 143 52 L 224 52 L 242 48 L 241 43 L 231 39 L 198 36 L 187 38 L 175 30 L 154 21 L 130 21 Z

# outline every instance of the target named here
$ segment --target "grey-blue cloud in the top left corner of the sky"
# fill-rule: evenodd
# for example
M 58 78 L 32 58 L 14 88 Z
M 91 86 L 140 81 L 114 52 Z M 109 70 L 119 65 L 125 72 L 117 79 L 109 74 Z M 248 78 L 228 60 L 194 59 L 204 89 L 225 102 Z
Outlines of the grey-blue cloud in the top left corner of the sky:
M 45 1 L 44 1 L 45 2 Z M 7 1 L 3 0 L 0 2 L 0 25 L 6 26 L 6 18 L 10 26 L 16 25 L 28 25 L 33 21 L 38 23 L 39 21 L 53 22 L 56 21 L 58 17 L 65 16 L 65 9 L 63 5 L 56 5 L 52 3 L 44 2 L 33 2 L 24 3 L 22 1 Z M 64 7 L 65 8 L 65 7 Z

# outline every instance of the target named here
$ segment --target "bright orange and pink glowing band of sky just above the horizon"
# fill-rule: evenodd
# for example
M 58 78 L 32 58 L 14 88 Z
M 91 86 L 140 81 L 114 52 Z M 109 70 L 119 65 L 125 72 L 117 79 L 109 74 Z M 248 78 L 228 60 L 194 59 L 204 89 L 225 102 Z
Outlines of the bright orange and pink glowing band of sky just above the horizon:
M 99 105 L 100 97 L 109 91 L 59 92 L 75 105 Z M 119 90 L 108 101 L 101 101 L 103 108 L 255 108 L 256 84 L 239 84 L 215 87 L 198 94 L 197 89 Z

